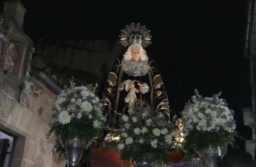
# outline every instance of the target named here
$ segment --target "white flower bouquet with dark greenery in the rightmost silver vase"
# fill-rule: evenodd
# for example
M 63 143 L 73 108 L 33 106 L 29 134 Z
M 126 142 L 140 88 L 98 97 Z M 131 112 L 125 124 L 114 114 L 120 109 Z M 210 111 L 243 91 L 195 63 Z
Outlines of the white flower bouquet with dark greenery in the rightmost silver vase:
M 236 136 L 234 112 L 225 100 L 219 98 L 220 93 L 213 97 L 202 97 L 197 90 L 195 93 L 182 112 L 186 136 L 184 149 L 192 153 L 195 148 L 199 150 L 208 145 L 225 147 L 233 142 Z

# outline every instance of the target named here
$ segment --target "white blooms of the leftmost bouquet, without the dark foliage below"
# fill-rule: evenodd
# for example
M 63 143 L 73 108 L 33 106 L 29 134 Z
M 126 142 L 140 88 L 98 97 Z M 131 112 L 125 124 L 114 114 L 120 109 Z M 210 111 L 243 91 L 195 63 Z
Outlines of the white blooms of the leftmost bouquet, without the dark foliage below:
M 90 88 L 87 88 L 90 87 Z M 72 120 L 87 117 L 93 120 L 93 127 L 101 127 L 105 118 L 102 115 L 102 103 L 92 92 L 92 85 L 70 87 L 57 97 L 54 105 L 52 124 L 68 124 Z M 104 124 L 104 123 L 103 123 Z

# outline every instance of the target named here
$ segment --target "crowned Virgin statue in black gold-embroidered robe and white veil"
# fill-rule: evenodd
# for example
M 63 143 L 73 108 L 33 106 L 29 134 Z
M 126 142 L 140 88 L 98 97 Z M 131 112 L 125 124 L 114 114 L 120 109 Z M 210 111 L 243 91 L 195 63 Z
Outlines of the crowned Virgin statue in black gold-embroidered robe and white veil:
M 152 112 L 164 112 L 170 117 L 161 75 L 143 49 L 151 44 L 150 31 L 140 23 L 131 23 L 121 32 L 120 43 L 128 49 L 116 59 L 107 77 L 103 105 L 108 125 L 118 124 L 116 112 L 128 115 L 129 109 L 143 104 L 150 105 Z

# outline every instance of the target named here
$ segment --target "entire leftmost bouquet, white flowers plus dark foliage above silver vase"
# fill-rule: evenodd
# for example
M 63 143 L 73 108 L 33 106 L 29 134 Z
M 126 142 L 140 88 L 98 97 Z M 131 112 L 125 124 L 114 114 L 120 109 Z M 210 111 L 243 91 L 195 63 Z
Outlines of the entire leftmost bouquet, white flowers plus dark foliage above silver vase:
M 86 142 L 103 135 L 102 128 L 105 127 L 105 117 L 102 115 L 101 100 L 95 95 L 92 85 L 71 87 L 63 90 L 55 101 L 54 114 L 51 117 L 51 130 L 55 136 L 68 139 L 78 136 Z M 60 151 L 58 140 L 54 146 Z

